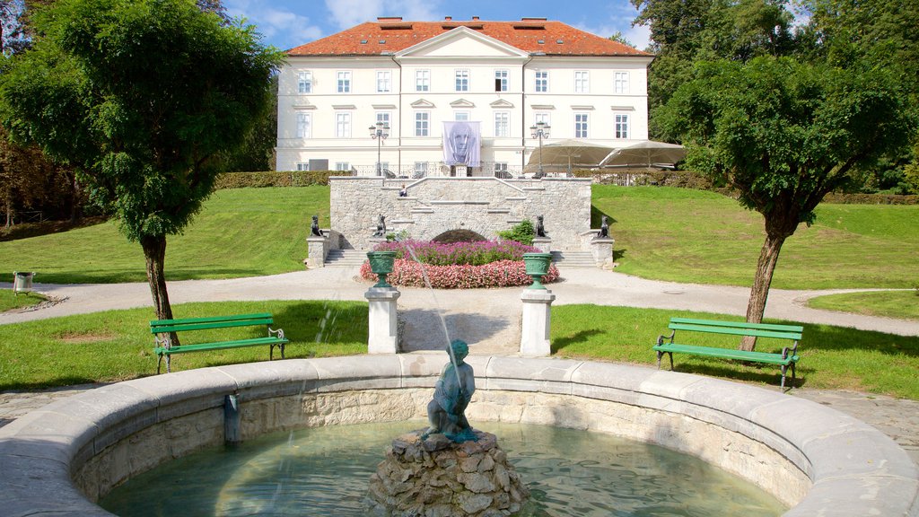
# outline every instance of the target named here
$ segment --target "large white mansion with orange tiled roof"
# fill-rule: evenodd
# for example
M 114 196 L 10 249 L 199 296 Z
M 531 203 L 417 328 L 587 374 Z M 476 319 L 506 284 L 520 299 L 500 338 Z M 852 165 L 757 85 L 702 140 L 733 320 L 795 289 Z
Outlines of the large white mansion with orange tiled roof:
M 543 145 L 624 147 L 648 138 L 652 54 L 545 18 L 380 17 L 287 53 L 278 170 L 375 176 L 379 159 L 403 177 L 516 176 L 539 149 L 538 122 L 549 126 Z M 478 125 L 479 159 L 465 161 L 473 167 L 445 156 L 452 121 Z M 378 122 L 388 138 L 371 138 Z

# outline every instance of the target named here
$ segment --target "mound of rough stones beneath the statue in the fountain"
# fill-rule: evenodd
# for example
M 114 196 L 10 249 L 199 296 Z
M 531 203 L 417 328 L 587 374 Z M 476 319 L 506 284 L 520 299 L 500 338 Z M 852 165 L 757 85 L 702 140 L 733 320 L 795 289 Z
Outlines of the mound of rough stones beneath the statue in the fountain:
M 443 434 L 414 431 L 392 441 L 370 477 L 371 515 L 385 517 L 496 517 L 520 511 L 529 497 L 507 454 L 489 432 L 456 443 Z

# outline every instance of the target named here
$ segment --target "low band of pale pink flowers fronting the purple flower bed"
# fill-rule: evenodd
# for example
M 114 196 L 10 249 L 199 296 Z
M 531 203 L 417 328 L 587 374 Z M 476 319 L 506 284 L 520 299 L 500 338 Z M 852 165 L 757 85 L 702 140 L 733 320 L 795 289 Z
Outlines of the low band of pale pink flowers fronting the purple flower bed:
M 392 272 L 386 281 L 393 285 L 407 287 L 426 287 L 425 274 L 434 289 L 479 289 L 483 287 L 514 287 L 529 285 L 532 282 L 527 274 L 523 260 L 498 260 L 473 266 L 461 264 L 453 266 L 435 266 L 419 264 L 411 259 L 396 259 Z M 369 281 L 377 281 L 377 275 L 370 271 L 369 262 L 360 267 L 360 276 Z M 550 266 L 549 274 L 542 277 L 542 283 L 556 281 L 559 270 Z

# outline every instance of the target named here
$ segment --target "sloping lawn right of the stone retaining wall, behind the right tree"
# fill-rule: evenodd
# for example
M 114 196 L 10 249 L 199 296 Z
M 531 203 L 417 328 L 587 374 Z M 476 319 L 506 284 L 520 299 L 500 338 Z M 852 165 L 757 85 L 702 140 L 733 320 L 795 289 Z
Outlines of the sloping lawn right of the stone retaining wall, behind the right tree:
M 749 286 L 765 233 L 759 213 L 715 192 L 593 187 L 594 227 L 610 217 L 618 271 Z M 824 203 L 782 247 L 772 287 L 909 288 L 919 280 L 919 206 Z

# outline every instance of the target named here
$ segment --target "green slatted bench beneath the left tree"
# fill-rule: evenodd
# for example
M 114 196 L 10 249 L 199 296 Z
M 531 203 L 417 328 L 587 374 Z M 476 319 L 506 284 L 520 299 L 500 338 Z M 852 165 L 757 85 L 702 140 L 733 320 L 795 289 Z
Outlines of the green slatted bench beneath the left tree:
M 189 345 L 173 345 L 169 334 L 172 332 L 188 332 L 192 330 L 208 330 L 214 328 L 233 327 L 267 327 L 268 335 L 265 338 L 233 339 L 229 341 L 215 341 L 210 343 L 193 343 Z M 268 359 L 274 359 L 275 347 L 281 350 L 281 359 L 284 359 L 284 345 L 289 339 L 284 338 L 284 330 L 271 328 L 274 318 L 270 313 L 247 314 L 238 316 L 191 317 L 186 319 L 157 319 L 150 322 L 150 332 L 153 334 L 153 352 L 159 356 L 156 362 L 156 373 L 160 373 L 163 358 L 166 358 L 166 372 L 170 372 L 170 358 L 175 353 L 185 353 L 200 350 L 233 349 L 239 347 L 255 347 L 268 345 Z

